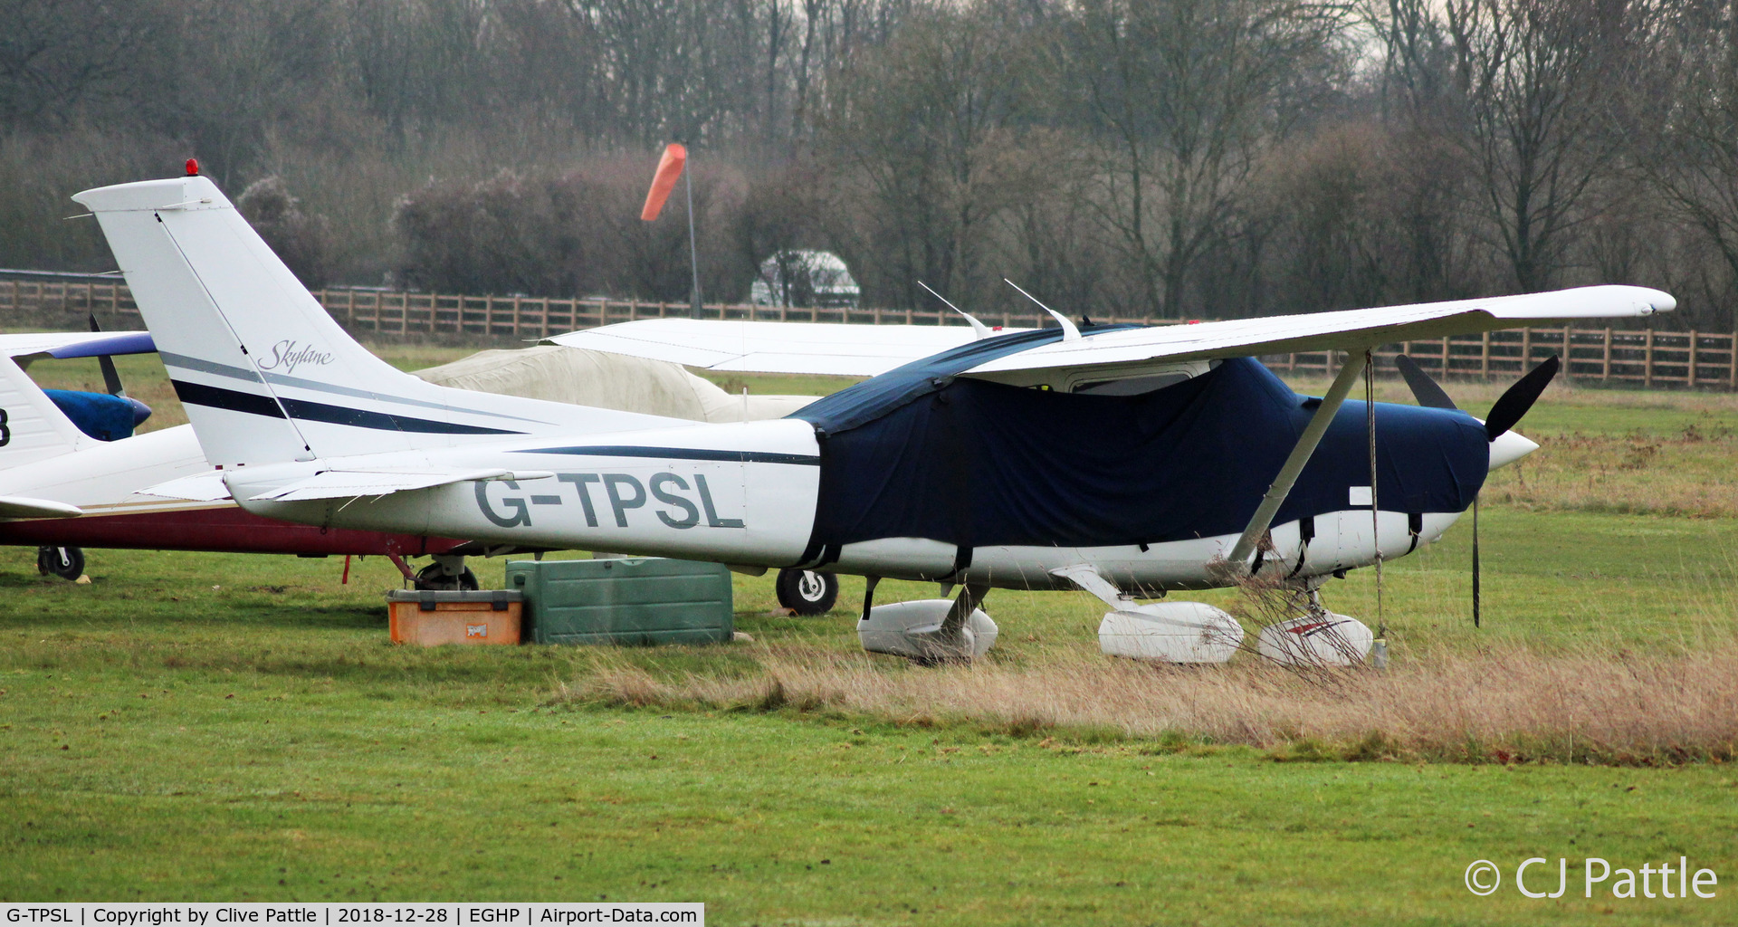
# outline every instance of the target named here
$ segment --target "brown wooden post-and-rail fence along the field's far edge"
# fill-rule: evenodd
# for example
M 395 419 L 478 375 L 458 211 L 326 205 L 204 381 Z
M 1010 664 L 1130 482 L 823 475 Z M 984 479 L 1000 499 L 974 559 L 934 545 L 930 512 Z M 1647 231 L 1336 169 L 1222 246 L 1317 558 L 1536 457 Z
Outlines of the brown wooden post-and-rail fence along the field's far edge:
M 687 303 L 634 299 L 546 299 L 532 296 L 448 296 L 428 292 L 328 289 L 315 297 L 358 334 L 473 334 L 537 339 L 636 318 L 687 317 Z M 87 313 L 137 317 L 122 282 L 0 280 L 0 311 Z M 853 322 L 872 325 L 963 325 L 951 311 L 923 310 L 786 310 L 775 306 L 709 304 L 707 318 L 765 322 Z M 982 317 L 989 325 L 1036 327 L 1036 315 Z M 1140 318 L 1104 318 L 1137 322 Z M 1550 355 L 1564 358 L 1564 372 L 1583 383 L 1738 390 L 1733 332 L 1663 332 L 1653 329 L 1510 329 L 1476 336 L 1408 341 L 1383 346 L 1380 367 L 1392 369 L 1408 353 L 1427 370 L 1449 377 L 1514 379 L 1528 363 Z M 1269 367 L 1293 374 L 1335 370 L 1328 351 L 1274 355 Z

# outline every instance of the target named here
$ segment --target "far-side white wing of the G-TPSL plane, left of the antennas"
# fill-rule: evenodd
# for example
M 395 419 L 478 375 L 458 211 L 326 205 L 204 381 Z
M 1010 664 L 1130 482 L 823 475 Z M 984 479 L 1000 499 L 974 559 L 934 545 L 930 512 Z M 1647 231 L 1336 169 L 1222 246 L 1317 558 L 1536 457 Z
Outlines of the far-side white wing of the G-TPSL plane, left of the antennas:
M 544 343 L 707 370 L 869 377 L 968 344 L 975 337 L 966 325 L 643 318 L 558 334 Z

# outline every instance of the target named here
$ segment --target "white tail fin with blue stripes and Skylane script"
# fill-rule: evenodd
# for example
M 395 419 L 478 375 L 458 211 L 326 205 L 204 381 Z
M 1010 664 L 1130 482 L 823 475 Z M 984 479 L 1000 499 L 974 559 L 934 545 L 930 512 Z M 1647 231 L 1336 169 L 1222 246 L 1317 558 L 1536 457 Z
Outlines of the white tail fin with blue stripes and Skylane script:
M 393 369 L 327 315 L 207 177 L 73 198 L 101 223 L 214 464 L 673 424 L 450 390 Z

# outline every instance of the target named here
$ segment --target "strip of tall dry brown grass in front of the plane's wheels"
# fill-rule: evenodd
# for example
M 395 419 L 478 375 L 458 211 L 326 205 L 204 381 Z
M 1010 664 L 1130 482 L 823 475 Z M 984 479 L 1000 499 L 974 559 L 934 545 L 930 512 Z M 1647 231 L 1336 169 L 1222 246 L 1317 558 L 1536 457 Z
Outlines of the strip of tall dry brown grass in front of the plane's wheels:
M 867 654 L 766 650 L 760 671 L 659 678 L 622 657 L 563 690 L 577 701 L 822 710 L 1013 734 L 1246 744 L 1276 758 L 1726 762 L 1738 746 L 1738 645 L 1707 652 L 1437 652 L 1389 671 L 1300 677 L 1260 661 L 1152 666 L 1053 654 L 1025 666 L 907 668 Z

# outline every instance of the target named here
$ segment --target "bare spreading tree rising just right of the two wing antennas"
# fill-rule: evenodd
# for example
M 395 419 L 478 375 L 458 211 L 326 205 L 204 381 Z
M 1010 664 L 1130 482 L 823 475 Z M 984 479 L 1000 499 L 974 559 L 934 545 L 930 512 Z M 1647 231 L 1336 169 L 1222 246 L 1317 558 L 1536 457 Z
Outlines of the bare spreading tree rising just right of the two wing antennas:
M 1147 308 L 1180 317 L 1189 273 L 1297 111 L 1279 94 L 1324 54 L 1338 7 L 1298 0 L 1085 0 L 1065 45 L 1102 127 L 1104 219 Z

